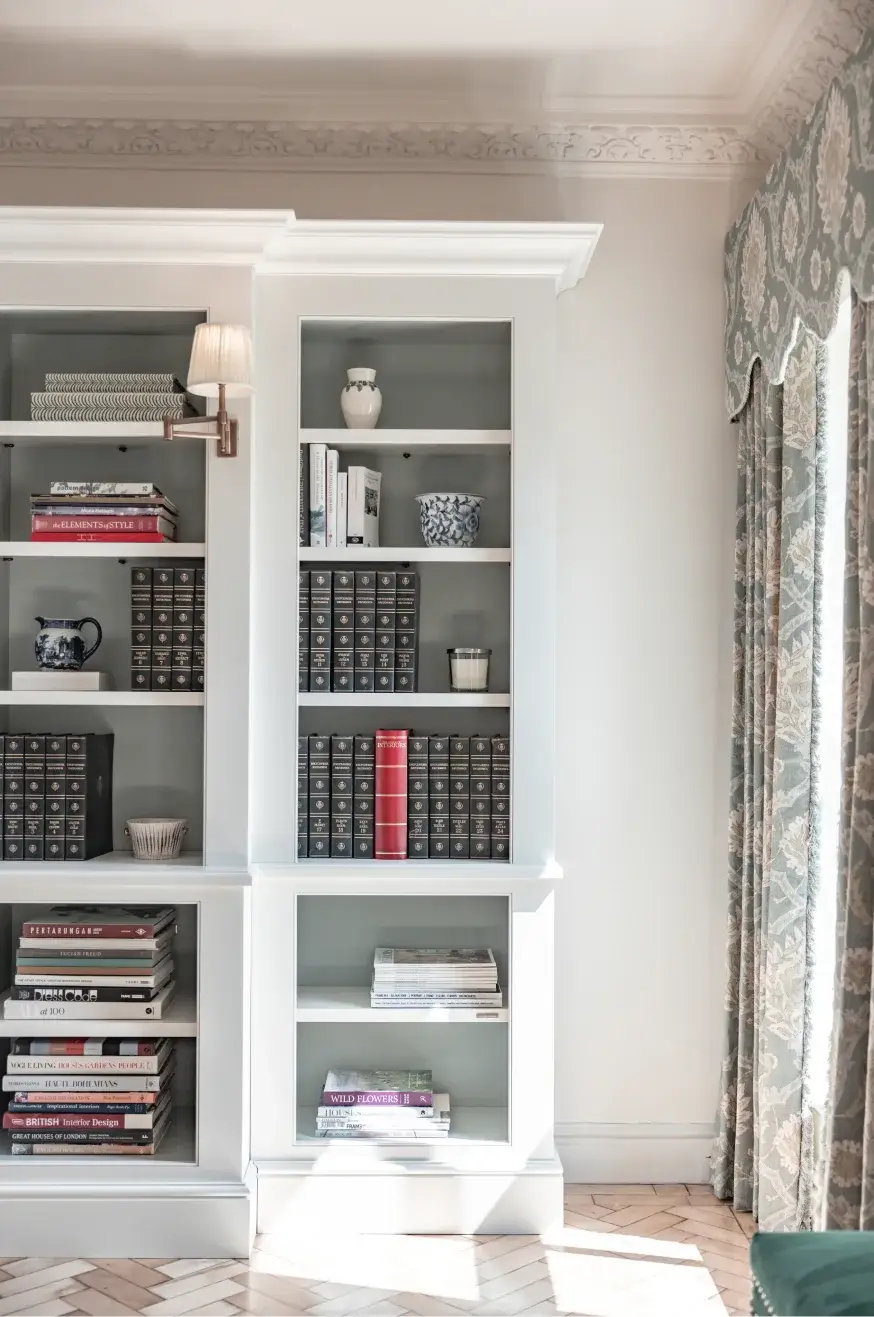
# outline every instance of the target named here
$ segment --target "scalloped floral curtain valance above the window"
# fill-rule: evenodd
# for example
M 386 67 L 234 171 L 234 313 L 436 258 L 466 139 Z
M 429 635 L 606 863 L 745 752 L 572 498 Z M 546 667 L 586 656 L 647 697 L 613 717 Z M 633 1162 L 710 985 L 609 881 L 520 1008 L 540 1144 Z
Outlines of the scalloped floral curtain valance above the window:
M 874 298 L 874 30 L 833 79 L 725 237 L 728 412 L 753 365 L 783 381 L 799 323 L 827 338 L 846 269 Z

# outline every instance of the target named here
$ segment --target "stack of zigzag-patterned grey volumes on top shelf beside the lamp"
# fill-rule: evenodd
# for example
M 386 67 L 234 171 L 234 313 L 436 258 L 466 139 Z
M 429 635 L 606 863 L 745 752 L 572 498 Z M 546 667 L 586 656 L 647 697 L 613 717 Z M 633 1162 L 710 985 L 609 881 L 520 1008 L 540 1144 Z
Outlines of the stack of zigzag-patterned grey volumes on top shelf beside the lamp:
M 186 394 L 170 374 L 54 371 L 30 394 L 32 420 L 180 420 Z

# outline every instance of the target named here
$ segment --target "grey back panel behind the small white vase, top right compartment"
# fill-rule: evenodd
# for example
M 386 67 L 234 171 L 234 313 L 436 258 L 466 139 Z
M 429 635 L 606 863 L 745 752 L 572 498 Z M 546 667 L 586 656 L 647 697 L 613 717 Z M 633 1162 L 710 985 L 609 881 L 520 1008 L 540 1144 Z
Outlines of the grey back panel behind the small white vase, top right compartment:
M 301 321 L 303 427 L 342 425 L 340 392 L 351 366 L 376 371 L 382 428 L 511 428 L 509 323 Z

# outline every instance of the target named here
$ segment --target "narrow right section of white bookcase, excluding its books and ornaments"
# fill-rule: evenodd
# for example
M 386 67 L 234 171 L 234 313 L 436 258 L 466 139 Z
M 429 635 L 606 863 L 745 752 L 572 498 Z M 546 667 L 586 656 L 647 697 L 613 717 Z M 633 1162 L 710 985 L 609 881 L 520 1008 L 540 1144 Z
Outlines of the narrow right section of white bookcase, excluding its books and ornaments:
M 561 1220 L 553 1143 L 557 292 L 594 227 L 299 223 L 255 277 L 253 454 L 253 1160 L 258 1227 L 537 1231 Z M 374 431 L 342 427 L 376 369 Z M 300 446 L 382 471 L 380 547 L 297 544 Z M 474 548 L 426 548 L 415 495 L 486 497 Z M 420 576 L 415 693 L 297 691 L 299 570 Z M 446 648 L 492 649 L 486 694 Z M 296 738 L 509 734 L 512 852 L 296 857 Z M 490 946 L 503 1009 L 370 1009 L 375 946 Z M 448 1141 L 316 1137 L 330 1067 L 433 1071 Z

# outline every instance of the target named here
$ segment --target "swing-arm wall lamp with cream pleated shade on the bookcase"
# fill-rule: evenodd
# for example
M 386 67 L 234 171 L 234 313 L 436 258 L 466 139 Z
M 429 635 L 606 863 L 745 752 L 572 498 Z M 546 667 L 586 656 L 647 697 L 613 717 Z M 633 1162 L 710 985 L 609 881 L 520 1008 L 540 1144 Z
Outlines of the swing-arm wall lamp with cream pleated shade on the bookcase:
M 188 392 L 217 398 L 215 416 L 190 416 L 186 420 L 166 416 L 165 439 L 215 436 L 218 457 L 236 457 L 237 417 L 228 415 L 225 399 L 245 398 L 253 392 L 251 337 L 245 325 L 197 325 L 188 363 Z

